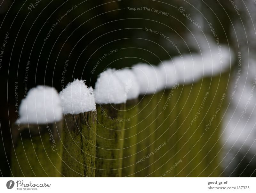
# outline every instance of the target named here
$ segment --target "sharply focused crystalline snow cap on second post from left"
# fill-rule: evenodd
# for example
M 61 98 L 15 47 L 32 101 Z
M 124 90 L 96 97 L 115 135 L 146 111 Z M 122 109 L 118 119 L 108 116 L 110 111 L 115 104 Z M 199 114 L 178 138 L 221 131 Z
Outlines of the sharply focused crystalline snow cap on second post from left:
M 76 79 L 60 92 L 64 114 L 79 114 L 95 111 L 96 104 L 92 87 L 85 85 L 85 80 Z

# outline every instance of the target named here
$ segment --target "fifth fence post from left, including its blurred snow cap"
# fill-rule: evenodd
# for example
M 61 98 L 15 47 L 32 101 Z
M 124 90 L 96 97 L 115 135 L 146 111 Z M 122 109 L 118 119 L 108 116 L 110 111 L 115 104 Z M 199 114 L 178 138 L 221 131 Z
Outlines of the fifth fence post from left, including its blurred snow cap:
M 156 164 L 154 163 L 154 149 L 156 140 L 157 120 L 157 73 L 155 67 L 139 63 L 133 65 L 133 72 L 140 85 L 138 144 L 136 156 L 136 177 L 152 176 Z

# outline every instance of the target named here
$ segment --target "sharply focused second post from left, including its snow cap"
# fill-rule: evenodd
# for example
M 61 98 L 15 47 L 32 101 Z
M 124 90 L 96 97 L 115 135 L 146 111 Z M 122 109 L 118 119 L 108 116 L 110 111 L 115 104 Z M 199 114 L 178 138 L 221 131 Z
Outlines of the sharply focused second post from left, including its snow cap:
M 95 177 L 96 104 L 84 80 L 68 83 L 60 92 L 63 120 L 61 173 L 65 177 Z

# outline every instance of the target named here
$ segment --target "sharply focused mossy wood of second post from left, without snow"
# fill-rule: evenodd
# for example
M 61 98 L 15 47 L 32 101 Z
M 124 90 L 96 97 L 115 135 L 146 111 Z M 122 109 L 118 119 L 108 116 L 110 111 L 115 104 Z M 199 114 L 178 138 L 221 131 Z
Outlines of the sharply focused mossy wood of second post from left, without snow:
M 62 175 L 95 177 L 96 111 L 64 115 L 62 143 Z

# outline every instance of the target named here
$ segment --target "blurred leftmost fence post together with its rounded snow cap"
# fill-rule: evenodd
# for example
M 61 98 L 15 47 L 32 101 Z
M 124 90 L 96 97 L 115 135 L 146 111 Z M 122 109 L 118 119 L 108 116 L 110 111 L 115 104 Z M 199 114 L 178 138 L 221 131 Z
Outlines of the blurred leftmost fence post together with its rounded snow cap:
M 29 90 L 12 127 L 13 177 L 61 177 L 62 109 L 57 91 L 48 86 Z

